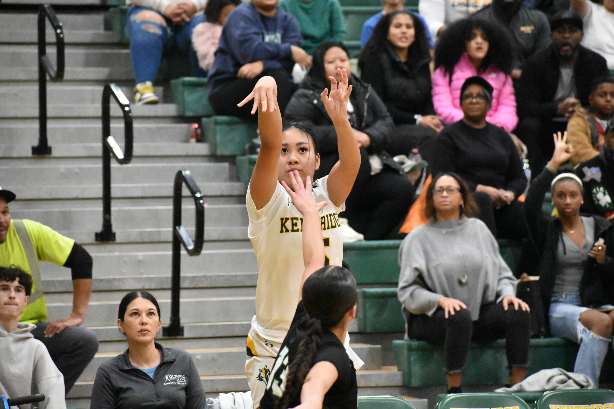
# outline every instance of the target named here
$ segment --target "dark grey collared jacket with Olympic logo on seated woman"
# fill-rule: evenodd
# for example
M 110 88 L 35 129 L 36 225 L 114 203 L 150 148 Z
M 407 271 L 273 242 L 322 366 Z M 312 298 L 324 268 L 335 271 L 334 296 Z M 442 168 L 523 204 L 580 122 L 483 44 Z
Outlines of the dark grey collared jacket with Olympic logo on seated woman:
M 162 358 L 153 379 L 128 359 L 128 350 L 100 365 L 91 391 L 96 409 L 204 409 L 206 397 L 190 354 L 155 344 Z

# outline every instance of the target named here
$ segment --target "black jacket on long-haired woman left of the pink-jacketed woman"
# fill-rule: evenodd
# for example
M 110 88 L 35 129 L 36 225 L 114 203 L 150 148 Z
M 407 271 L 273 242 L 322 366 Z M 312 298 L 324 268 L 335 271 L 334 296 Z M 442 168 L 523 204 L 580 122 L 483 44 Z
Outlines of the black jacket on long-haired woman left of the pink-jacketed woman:
M 415 124 L 414 115 L 435 115 L 430 94 L 430 57 L 413 68 L 386 44 L 378 55 L 360 61 L 360 78 L 381 97 L 395 124 Z

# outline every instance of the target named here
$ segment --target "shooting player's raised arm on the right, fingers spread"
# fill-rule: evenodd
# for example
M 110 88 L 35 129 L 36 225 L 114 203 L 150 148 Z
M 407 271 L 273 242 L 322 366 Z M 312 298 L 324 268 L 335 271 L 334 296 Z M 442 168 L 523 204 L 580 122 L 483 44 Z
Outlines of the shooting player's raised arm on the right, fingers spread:
M 330 170 L 327 190 L 328 197 L 333 204 L 340 207 L 354 186 L 354 180 L 356 180 L 360 167 L 360 150 L 354 130 L 348 121 L 348 100 L 352 92 L 348 72 L 338 68 L 337 74 L 340 81 L 336 82 L 334 77 L 328 77 L 331 84 L 330 93 L 324 90 L 320 96 L 337 133 L 339 161 Z

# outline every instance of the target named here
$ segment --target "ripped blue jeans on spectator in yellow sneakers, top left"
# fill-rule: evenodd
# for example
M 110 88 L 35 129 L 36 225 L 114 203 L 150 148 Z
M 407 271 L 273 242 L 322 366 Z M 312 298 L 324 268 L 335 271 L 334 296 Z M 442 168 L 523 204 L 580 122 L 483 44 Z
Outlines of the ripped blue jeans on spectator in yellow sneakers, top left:
M 158 13 L 156 10 L 138 6 L 128 7 L 126 15 L 126 36 L 130 38 L 130 59 L 136 83 L 155 79 L 160 68 L 162 53 L 173 47 L 189 53 L 190 66 L 194 75 L 204 77 L 204 71 L 198 66 L 198 58 L 192 47 L 192 31 L 198 23 L 203 23 L 203 13 L 193 15 L 184 25 L 175 25 L 169 18 L 160 14 L 166 26 L 153 21 L 141 20 L 136 15 L 142 11 Z

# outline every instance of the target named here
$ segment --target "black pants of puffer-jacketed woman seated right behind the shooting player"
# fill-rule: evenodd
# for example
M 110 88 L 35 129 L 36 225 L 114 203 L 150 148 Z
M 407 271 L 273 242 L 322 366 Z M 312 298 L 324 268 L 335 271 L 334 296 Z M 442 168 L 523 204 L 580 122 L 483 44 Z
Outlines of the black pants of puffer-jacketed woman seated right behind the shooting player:
M 320 169 L 315 178 L 330 173 L 339 160 L 336 153 L 322 155 Z M 406 175 L 384 165 L 384 169 L 371 175 L 369 154 L 360 148 L 360 169 L 346 200 L 341 217 L 365 236 L 365 240 L 383 240 L 404 220 L 414 196 L 414 188 Z

